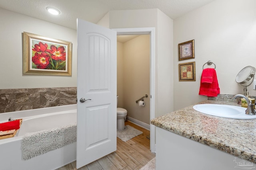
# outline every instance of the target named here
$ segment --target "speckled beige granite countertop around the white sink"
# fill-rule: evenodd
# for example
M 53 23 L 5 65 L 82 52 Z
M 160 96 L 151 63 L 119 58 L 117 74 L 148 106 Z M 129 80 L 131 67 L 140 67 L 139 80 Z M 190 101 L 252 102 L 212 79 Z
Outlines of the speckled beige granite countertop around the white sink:
M 214 100 L 198 104 L 240 106 L 236 102 Z M 215 117 L 202 114 L 194 110 L 193 106 L 188 106 L 152 119 L 151 124 L 256 163 L 256 119 Z

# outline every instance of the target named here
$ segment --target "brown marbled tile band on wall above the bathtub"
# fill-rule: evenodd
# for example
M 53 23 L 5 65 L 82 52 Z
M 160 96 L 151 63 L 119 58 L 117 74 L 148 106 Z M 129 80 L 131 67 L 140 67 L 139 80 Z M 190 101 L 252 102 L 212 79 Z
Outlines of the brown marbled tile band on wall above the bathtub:
M 76 104 L 76 87 L 0 90 L 0 113 Z

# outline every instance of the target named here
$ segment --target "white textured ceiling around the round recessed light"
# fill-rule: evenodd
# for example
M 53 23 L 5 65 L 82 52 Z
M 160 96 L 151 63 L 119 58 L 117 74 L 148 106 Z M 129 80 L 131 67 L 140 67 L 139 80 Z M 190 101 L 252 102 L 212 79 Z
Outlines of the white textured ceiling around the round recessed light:
M 76 18 L 97 23 L 110 10 L 158 8 L 172 19 L 214 0 L 0 0 L 0 8 L 76 29 Z M 51 6 L 61 14 L 52 16 Z

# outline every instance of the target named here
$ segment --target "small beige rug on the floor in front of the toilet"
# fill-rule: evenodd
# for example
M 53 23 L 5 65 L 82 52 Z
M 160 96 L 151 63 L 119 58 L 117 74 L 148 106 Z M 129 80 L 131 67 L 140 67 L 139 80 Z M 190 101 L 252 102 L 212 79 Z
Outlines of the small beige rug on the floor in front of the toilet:
M 122 131 L 117 131 L 116 135 L 119 139 L 126 142 L 142 133 L 143 133 L 142 131 L 139 131 L 138 129 L 135 129 L 134 127 L 126 125 L 125 129 Z

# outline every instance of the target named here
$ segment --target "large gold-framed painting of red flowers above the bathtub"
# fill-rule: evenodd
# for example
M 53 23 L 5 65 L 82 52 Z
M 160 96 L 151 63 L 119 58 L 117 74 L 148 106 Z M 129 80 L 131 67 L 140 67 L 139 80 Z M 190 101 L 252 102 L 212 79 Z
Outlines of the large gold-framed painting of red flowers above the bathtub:
M 72 75 L 72 43 L 23 32 L 23 74 Z

